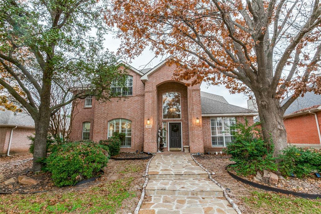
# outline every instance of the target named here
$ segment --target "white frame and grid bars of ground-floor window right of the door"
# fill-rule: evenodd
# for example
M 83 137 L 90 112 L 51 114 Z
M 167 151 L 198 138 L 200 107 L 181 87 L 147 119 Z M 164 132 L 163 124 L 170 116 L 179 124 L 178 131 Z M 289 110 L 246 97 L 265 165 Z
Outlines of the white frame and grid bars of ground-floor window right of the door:
M 231 122 L 230 119 L 234 119 L 234 122 Z M 221 133 L 220 133 L 220 129 L 216 128 L 214 131 L 212 131 L 212 120 L 218 120 L 221 119 Z M 228 124 L 227 126 L 224 125 L 224 119 L 228 119 Z M 231 135 L 231 131 L 235 131 L 235 130 L 230 130 L 230 126 L 236 123 L 236 118 L 235 117 L 212 117 L 210 118 L 210 128 L 211 128 L 211 144 L 212 147 L 226 147 L 226 139 L 225 137 L 234 137 L 233 135 Z M 214 132 L 214 134 L 213 134 Z M 223 145 L 213 145 L 213 137 L 222 137 L 223 138 Z M 229 142 L 230 143 L 230 142 Z

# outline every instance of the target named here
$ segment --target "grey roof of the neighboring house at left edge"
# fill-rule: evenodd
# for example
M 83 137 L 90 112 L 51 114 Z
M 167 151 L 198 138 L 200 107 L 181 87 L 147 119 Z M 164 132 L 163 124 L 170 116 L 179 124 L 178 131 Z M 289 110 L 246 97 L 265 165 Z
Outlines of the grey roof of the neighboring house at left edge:
M 13 111 L 0 110 L 1 126 L 19 126 L 19 127 L 35 127 L 32 117 L 24 112 L 18 112 L 14 115 Z

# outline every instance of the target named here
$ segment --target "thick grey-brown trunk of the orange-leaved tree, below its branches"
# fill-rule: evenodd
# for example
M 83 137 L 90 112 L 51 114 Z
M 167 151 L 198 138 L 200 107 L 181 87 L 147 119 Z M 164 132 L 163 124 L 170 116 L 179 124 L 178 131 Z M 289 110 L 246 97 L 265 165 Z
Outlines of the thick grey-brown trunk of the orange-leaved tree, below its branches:
M 284 111 L 278 99 L 269 94 L 255 94 L 263 138 L 273 143 L 273 156 L 276 157 L 287 147 L 286 131 L 283 122 Z

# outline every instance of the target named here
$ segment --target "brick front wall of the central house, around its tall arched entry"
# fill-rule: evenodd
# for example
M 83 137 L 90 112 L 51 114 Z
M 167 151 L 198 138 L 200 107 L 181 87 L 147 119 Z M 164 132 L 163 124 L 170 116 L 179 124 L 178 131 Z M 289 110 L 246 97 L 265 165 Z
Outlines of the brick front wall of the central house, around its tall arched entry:
M 93 100 L 91 108 L 84 108 L 84 101 L 74 106 L 71 140 L 82 138 L 82 123 L 91 122 L 90 139 L 98 142 L 107 139 L 108 121 L 124 118 L 132 121 L 132 139 L 130 148 L 121 151 L 157 152 L 157 132 L 162 122 L 179 122 L 182 129 L 182 146 L 188 145 L 191 153 L 212 149 L 208 118 L 202 118 L 200 84 L 186 86 L 187 81 L 174 80 L 176 64 L 166 63 L 148 74 L 145 81 L 141 75 L 129 70 L 133 76 L 133 95 L 126 100 L 111 98 L 110 102 L 99 103 Z M 163 119 L 162 94 L 178 92 L 181 98 L 181 119 Z M 196 122 L 199 118 L 199 123 Z M 147 125 L 150 121 L 150 126 Z M 253 121 L 253 117 L 252 117 Z M 203 143 L 204 142 L 204 143 Z M 168 150 L 168 147 L 165 148 Z M 213 149 L 212 149 L 213 150 Z

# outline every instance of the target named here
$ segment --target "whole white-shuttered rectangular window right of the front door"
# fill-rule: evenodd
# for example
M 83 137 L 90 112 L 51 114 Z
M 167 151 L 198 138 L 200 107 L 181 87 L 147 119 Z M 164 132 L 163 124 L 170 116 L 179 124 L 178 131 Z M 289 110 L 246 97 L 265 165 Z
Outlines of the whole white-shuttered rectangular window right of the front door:
M 226 147 L 234 140 L 230 126 L 236 123 L 235 117 L 211 118 L 212 147 Z

